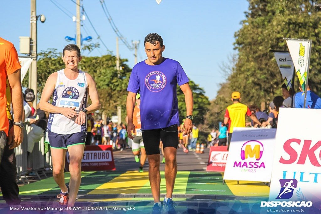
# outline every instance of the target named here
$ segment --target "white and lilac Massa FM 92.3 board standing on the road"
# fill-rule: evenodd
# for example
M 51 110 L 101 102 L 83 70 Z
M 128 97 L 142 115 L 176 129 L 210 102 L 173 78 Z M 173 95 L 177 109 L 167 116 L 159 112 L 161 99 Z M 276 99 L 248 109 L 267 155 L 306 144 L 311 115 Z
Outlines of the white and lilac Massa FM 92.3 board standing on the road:
M 224 180 L 270 182 L 276 129 L 233 129 Z

